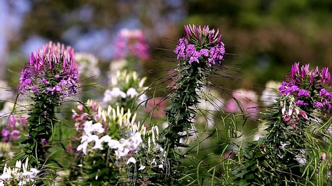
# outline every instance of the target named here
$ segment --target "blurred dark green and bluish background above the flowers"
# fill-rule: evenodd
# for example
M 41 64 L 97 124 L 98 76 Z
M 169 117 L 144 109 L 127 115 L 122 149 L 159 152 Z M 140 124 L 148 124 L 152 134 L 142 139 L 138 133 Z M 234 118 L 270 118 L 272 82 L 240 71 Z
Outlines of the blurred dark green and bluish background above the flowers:
M 191 23 L 223 34 L 227 63 L 243 78 L 224 84 L 258 92 L 268 80 L 281 81 L 295 61 L 332 66 L 331 10 L 331 0 L 0 0 L 0 79 L 17 84 L 30 52 L 48 40 L 108 66 L 119 30 L 138 28 L 150 45 L 144 67 L 153 81 L 166 72 L 148 70 L 170 65 L 183 25 Z

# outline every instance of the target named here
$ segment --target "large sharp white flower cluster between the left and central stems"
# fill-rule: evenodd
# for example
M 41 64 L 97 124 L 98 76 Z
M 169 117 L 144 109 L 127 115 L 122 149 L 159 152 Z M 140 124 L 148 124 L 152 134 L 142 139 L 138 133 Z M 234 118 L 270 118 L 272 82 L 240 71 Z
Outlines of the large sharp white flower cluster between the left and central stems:
M 142 145 L 141 134 L 137 130 L 130 130 L 130 128 L 136 128 L 133 127 L 136 125 L 134 124 L 136 114 L 133 114 L 131 118 L 130 110 L 124 114 L 124 110 L 120 110 L 119 107 L 117 107 L 116 110 L 109 107 L 107 112 L 102 110 L 98 114 L 100 114 L 100 118 L 102 118 L 104 122 L 111 120 L 113 122 L 116 121 L 117 125 L 124 127 L 124 129 L 129 127 L 129 138 L 120 138 L 118 141 L 114 140 L 111 136 L 105 134 L 104 127 L 101 123 L 86 121 L 84 123 L 84 135 L 82 136 L 81 144 L 77 147 L 77 151 L 82 150 L 86 155 L 89 143 L 94 142 L 95 145 L 92 149 L 104 149 L 104 143 L 107 143 L 109 149 L 115 149 L 117 159 L 127 156 L 129 153 L 138 152 L 140 145 Z

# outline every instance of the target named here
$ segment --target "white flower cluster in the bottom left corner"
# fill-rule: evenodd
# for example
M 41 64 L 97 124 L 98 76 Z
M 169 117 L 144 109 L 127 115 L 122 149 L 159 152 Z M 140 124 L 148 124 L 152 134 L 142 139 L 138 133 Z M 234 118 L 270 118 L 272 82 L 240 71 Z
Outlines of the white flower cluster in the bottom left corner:
M 23 171 L 23 172 L 22 172 Z M 22 164 L 21 161 L 17 161 L 14 168 L 7 167 L 5 165 L 3 174 L 0 175 L 0 186 L 2 185 L 35 185 L 35 178 L 39 170 L 31 168 L 28 170 L 28 158 L 26 163 Z

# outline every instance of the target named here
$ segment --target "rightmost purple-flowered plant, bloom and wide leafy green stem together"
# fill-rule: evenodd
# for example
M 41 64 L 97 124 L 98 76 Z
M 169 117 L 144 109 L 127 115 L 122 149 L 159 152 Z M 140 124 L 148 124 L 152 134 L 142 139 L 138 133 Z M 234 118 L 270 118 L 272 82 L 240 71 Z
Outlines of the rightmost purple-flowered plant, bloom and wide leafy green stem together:
M 248 185 L 325 185 L 327 165 L 320 162 L 320 154 L 331 152 L 332 138 L 326 135 L 332 116 L 329 68 L 309 70 L 309 64 L 299 68 L 294 63 L 279 95 L 266 113 L 266 136 L 245 149 L 244 166 L 234 171 L 235 180 Z

